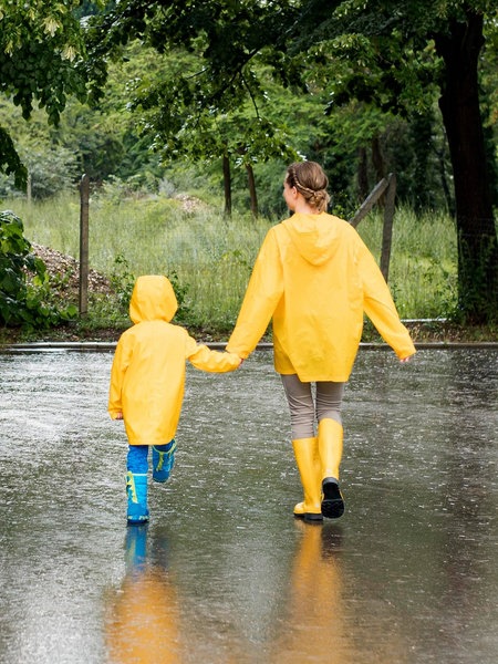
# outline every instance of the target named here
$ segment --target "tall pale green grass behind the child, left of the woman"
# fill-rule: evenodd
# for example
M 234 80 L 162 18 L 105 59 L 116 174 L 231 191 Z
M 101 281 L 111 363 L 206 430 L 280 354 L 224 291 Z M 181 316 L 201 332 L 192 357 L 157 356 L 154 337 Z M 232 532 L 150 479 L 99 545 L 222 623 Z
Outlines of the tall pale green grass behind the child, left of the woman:
M 77 198 L 65 196 L 31 206 L 12 200 L 4 207 L 23 220 L 31 242 L 79 257 Z M 173 274 L 185 292 L 187 321 L 227 331 L 235 323 L 269 227 L 268 220 L 250 216 L 228 221 L 204 205 L 185 211 L 175 199 L 96 199 L 90 206 L 90 267 L 107 277 L 120 269 L 133 277 Z

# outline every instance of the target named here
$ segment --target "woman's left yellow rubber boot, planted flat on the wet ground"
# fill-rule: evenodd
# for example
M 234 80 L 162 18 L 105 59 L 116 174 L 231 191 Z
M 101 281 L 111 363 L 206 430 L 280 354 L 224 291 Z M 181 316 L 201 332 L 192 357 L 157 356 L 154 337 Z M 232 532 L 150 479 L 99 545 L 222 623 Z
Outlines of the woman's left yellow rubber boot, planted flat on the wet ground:
M 322 521 L 318 440 L 317 438 L 300 438 L 292 440 L 292 447 L 304 490 L 304 500 L 294 507 L 294 517 L 304 519 L 304 521 Z

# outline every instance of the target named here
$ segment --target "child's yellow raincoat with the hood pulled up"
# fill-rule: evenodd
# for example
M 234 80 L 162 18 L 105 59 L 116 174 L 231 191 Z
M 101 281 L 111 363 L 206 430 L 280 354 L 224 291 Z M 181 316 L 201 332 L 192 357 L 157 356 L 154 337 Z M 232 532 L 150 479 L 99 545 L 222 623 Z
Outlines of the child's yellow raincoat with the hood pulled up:
M 117 342 L 111 370 L 108 413 L 123 413 L 129 445 L 165 445 L 175 436 L 185 387 L 185 361 L 224 373 L 240 364 L 238 355 L 197 345 L 169 321 L 178 308 L 168 279 L 139 277 L 129 303 L 135 323 Z

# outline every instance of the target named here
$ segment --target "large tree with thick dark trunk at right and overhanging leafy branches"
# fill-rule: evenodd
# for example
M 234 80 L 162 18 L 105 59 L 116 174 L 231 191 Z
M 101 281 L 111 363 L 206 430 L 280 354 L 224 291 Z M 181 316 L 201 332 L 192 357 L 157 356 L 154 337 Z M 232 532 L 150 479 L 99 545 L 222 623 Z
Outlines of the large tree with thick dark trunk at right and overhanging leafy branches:
M 232 110 L 257 91 L 256 61 L 307 91 L 307 72 L 326 65 L 332 48 L 342 65 L 340 81 L 331 76 L 331 104 L 342 95 L 406 116 L 424 112 L 437 89 L 454 170 L 459 308 L 468 321 L 486 322 L 498 315 L 498 242 L 478 74 L 484 27 L 496 31 L 497 18 L 491 0 L 125 0 L 101 17 L 90 44 L 101 62 L 131 35 L 159 51 L 195 51 L 204 68 L 187 94 L 199 110 Z

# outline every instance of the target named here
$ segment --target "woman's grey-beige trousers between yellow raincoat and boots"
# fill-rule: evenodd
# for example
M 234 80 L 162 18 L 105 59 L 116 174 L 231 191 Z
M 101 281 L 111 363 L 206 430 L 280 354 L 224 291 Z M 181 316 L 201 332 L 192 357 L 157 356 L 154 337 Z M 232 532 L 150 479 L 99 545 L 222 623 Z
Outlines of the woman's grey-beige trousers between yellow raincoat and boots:
M 295 374 L 281 375 L 291 417 L 292 439 L 313 438 L 321 419 L 342 424 L 341 405 L 344 383 L 319 381 L 302 383 Z

